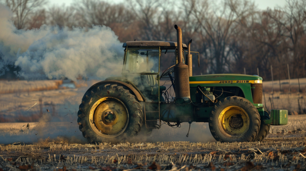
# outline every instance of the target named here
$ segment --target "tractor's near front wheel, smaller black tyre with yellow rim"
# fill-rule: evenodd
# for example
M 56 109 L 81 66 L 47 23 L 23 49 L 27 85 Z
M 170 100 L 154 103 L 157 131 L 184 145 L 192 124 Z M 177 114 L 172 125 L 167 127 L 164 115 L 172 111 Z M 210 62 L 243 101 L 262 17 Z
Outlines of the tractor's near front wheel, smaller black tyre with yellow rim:
M 247 99 L 237 96 L 220 100 L 209 117 L 211 134 L 217 141 L 253 141 L 259 132 L 260 116 Z

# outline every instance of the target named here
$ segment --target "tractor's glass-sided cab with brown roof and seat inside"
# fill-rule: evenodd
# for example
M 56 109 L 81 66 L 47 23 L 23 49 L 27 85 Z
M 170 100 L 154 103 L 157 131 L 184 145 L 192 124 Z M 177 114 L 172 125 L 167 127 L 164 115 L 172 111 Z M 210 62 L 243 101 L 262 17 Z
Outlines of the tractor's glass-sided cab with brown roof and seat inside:
M 183 51 L 187 50 L 185 44 L 182 47 Z M 128 41 L 123 48 L 122 76 L 138 87 L 146 101 L 165 101 L 161 94 L 166 87 L 160 85 L 160 79 L 172 77 L 173 66 L 177 64 L 177 42 Z M 165 67 L 161 67 L 160 61 Z

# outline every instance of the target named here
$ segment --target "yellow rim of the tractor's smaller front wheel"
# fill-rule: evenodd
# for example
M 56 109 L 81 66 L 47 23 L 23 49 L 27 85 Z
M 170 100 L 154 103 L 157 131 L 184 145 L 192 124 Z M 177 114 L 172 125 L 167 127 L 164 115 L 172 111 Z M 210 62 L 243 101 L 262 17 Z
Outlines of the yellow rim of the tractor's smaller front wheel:
M 250 118 L 241 107 L 229 106 L 220 113 L 218 126 L 226 137 L 239 138 L 248 131 Z

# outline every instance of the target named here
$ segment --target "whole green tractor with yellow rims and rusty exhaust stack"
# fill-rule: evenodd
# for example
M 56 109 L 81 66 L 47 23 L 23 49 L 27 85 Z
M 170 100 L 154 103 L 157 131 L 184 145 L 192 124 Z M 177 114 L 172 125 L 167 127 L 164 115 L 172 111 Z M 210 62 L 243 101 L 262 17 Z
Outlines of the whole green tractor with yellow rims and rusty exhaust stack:
M 192 122 L 208 122 L 217 141 L 262 141 L 270 125 L 287 124 L 287 110 L 269 113 L 263 106 L 261 77 L 192 76 L 191 41 L 188 46 L 182 44 L 181 28 L 174 27 L 177 42 L 124 43 L 122 77 L 107 78 L 84 94 L 78 124 L 90 143 L 126 142 L 150 135 L 162 122 L 169 126 L 188 122 L 189 129 Z M 168 59 L 175 65 L 161 73 L 159 64 Z M 171 80 L 175 97 L 160 85 L 161 78 Z

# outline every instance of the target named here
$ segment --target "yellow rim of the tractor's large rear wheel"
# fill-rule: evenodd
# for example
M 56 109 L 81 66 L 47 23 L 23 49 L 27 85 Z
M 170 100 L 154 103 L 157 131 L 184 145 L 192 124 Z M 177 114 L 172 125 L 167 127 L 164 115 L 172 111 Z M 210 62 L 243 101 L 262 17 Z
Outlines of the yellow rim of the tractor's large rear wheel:
M 113 138 L 122 134 L 129 122 L 129 113 L 119 99 L 99 99 L 89 112 L 91 129 L 101 137 Z

